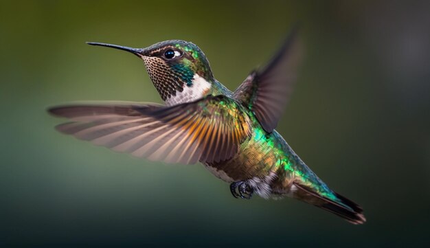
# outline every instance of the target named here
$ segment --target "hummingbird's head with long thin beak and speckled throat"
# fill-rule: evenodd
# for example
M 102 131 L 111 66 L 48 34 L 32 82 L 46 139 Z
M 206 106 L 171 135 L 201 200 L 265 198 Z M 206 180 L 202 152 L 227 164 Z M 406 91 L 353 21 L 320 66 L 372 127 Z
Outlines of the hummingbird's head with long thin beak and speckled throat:
M 146 70 L 164 101 L 187 87 L 210 85 L 214 80 L 205 54 L 193 43 L 162 41 L 146 48 L 123 47 L 106 43 L 88 43 L 121 49 L 144 60 Z

